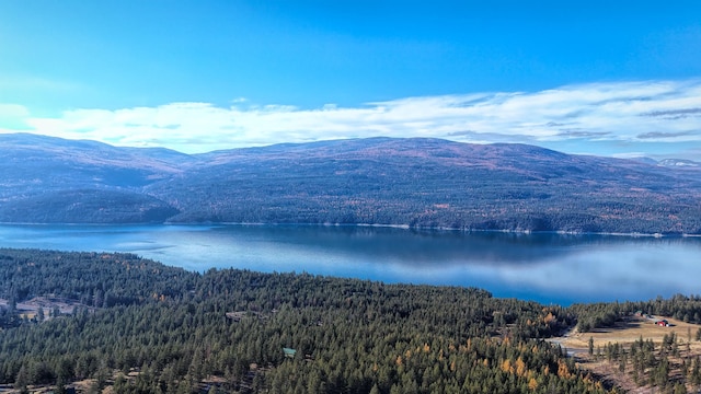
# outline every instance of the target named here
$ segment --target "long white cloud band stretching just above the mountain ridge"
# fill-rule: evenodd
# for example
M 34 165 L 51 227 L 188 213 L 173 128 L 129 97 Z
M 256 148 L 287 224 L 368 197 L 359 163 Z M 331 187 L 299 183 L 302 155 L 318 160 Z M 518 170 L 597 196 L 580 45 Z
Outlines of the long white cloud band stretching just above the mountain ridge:
M 4 108 L 4 109 L 3 109 Z M 435 137 L 464 142 L 625 141 L 701 144 L 701 80 L 566 85 L 540 92 L 405 97 L 358 107 L 230 107 L 171 103 L 33 117 L 0 105 L 34 132 L 119 146 L 205 152 L 323 139 Z M 0 131 L 12 127 L 0 125 Z

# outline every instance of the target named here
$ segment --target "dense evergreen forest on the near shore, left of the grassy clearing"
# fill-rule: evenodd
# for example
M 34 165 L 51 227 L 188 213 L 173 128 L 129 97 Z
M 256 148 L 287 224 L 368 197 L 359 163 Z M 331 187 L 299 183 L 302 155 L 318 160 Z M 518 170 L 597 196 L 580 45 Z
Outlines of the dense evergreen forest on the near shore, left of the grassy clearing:
M 117 393 L 606 391 L 539 339 L 574 323 L 559 306 L 478 289 L 187 273 L 124 254 L 0 256 L 0 297 L 103 297 L 0 331 L 0 383 L 19 389 L 91 378 Z

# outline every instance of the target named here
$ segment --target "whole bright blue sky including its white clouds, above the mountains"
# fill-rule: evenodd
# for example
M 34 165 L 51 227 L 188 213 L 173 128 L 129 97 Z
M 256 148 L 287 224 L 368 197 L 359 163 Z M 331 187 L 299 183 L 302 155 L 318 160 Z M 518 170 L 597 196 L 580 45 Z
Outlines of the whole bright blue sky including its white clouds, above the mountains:
M 3 1 L 0 132 L 701 160 L 699 15 L 699 1 Z

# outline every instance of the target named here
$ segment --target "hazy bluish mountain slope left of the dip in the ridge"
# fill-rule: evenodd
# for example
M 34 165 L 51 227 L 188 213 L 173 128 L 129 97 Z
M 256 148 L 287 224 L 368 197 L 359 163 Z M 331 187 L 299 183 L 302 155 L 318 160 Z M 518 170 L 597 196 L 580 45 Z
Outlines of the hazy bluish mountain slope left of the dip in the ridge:
M 162 222 L 177 211 L 141 192 L 192 160 L 168 150 L 0 135 L 0 222 Z

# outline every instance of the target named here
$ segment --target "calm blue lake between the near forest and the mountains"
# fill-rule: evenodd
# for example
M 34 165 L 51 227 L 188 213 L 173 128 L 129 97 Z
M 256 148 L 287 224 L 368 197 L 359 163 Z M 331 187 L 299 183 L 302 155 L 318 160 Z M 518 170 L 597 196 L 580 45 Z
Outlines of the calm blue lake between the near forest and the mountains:
M 189 270 L 473 286 L 543 303 L 701 293 L 701 239 L 317 225 L 0 225 L 0 246 L 128 252 Z

